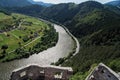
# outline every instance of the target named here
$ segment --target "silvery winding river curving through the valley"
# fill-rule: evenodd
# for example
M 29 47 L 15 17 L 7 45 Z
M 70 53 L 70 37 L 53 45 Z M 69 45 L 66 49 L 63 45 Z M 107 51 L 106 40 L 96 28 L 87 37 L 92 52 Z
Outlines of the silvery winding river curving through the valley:
M 0 63 L 0 80 L 9 80 L 14 69 L 29 64 L 50 65 L 59 58 L 68 56 L 74 48 L 75 42 L 63 27 L 55 24 L 54 28 L 59 33 L 59 40 L 55 47 L 49 48 L 39 54 L 33 54 L 29 58 Z M 79 43 L 77 44 L 79 45 Z

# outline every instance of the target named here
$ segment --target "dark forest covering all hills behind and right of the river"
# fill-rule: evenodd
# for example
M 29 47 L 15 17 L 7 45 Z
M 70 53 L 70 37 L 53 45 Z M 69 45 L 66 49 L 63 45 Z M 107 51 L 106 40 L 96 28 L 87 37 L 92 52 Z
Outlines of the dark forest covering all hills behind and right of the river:
M 62 3 L 51 7 L 32 5 L 23 8 L 11 8 L 11 11 L 57 21 L 78 38 L 81 44 L 80 52 L 65 62 L 59 60 L 62 66 L 73 68 L 74 75 L 70 80 L 85 80 L 92 68 L 100 62 L 120 72 L 118 5 L 87 1 L 81 4 Z

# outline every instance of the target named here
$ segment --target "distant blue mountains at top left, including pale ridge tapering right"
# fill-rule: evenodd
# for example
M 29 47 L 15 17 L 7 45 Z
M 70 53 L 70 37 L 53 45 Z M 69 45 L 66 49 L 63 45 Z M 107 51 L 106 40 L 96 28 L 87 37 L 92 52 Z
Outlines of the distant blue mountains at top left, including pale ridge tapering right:
M 50 7 L 53 4 L 51 3 L 44 3 L 44 2 L 36 2 L 33 0 L 1 0 L 0 1 L 0 6 L 2 7 L 25 7 L 25 6 L 30 6 L 30 5 L 40 5 L 44 7 Z

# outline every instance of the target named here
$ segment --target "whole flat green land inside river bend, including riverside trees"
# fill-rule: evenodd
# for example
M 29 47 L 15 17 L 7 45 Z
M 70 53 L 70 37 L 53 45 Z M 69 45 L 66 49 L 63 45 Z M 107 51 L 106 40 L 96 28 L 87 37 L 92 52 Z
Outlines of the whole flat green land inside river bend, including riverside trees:
M 58 40 L 53 25 L 21 14 L 0 12 L 0 62 L 29 57 Z

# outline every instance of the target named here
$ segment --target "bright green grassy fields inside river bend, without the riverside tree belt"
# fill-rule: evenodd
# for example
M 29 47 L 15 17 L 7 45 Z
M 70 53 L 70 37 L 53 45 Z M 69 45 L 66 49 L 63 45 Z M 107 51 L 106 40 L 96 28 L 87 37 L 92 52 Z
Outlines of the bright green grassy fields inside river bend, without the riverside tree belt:
M 11 23 L 7 21 L 11 19 Z M 17 54 L 15 50 L 25 48 L 29 50 L 41 41 L 41 38 L 50 30 L 48 24 L 25 15 L 0 13 L 0 21 L 7 23 L 0 24 L 0 62 L 6 59 L 14 59 Z M 9 26 L 11 27 L 8 27 Z M 3 29 L 3 25 L 6 27 Z M 3 49 L 7 46 L 7 49 Z

